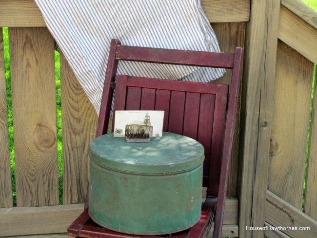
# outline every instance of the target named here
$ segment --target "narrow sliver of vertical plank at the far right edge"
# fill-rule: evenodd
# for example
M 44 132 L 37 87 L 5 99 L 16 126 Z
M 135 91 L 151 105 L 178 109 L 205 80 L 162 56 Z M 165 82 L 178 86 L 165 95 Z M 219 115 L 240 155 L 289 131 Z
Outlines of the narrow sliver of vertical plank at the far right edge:
M 315 93 L 311 124 L 311 140 L 307 165 L 306 190 L 305 190 L 305 213 L 317 220 L 317 74 L 315 75 Z

